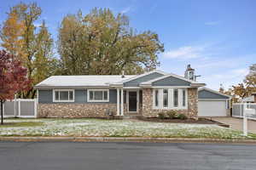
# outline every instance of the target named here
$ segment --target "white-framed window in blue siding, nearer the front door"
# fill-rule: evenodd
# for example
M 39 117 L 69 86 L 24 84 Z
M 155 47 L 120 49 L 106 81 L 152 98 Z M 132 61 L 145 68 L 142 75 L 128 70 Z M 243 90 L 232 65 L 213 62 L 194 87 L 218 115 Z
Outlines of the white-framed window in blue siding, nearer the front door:
M 108 90 L 88 90 L 88 102 L 108 102 Z

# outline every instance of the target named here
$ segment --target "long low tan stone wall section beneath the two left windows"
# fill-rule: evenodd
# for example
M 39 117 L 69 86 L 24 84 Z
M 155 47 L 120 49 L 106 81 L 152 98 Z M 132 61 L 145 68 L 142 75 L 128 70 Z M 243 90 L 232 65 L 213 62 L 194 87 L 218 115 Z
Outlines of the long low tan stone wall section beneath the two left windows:
M 38 104 L 38 117 L 104 117 L 116 104 Z

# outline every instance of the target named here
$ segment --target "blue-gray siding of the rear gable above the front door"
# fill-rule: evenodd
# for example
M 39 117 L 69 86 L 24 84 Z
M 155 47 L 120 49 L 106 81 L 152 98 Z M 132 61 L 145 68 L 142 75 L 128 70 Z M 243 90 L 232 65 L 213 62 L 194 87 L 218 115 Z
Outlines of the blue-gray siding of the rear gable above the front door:
M 146 75 L 144 77 L 139 77 L 137 79 L 131 80 L 129 82 L 125 82 L 125 87 L 138 87 L 141 82 L 148 82 L 149 80 L 153 80 L 154 78 L 162 77 L 163 74 L 160 74 L 158 72 L 153 72 L 149 75 Z

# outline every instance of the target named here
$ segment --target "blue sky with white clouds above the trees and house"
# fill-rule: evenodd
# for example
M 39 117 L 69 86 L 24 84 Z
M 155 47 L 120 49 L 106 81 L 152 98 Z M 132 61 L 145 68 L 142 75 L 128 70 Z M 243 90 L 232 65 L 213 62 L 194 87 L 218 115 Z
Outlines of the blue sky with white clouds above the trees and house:
M 254 0 L 41 0 L 50 33 L 56 39 L 62 18 L 79 9 L 110 8 L 126 14 L 137 31 L 154 31 L 165 45 L 158 69 L 183 75 L 186 65 L 195 69 L 207 88 L 230 88 L 242 82 L 256 63 L 256 1 Z M 0 0 L 0 23 L 20 0 Z

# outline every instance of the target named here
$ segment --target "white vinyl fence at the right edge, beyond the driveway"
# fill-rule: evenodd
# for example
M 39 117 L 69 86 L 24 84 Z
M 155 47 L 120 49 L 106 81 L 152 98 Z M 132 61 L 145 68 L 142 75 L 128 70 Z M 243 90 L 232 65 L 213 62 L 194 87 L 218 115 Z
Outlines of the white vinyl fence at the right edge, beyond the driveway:
M 232 116 L 234 116 L 234 117 L 243 117 L 244 110 L 246 108 L 256 110 L 256 104 L 246 104 L 246 103 L 233 104 Z M 250 116 L 248 118 L 256 120 L 256 116 Z

